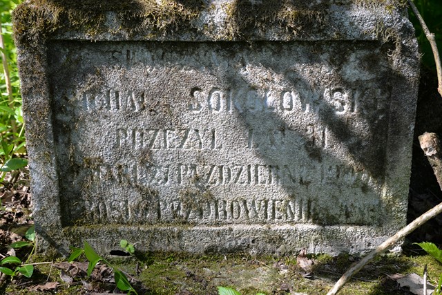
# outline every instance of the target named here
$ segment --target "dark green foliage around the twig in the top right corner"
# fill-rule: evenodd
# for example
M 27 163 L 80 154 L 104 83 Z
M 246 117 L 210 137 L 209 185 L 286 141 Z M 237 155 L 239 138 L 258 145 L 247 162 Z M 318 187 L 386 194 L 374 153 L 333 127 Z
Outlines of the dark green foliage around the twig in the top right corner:
M 441 0 L 414 0 L 416 8 L 421 13 L 430 32 L 434 33 L 439 51 L 442 50 L 442 1 Z M 421 24 L 410 9 L 410 19 L 416 29 L 416 37 L 422 52 L 422 64 L 435 71 L 434 56 L 430 43 L 425 37 Z

